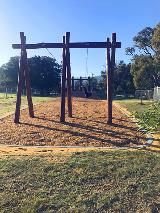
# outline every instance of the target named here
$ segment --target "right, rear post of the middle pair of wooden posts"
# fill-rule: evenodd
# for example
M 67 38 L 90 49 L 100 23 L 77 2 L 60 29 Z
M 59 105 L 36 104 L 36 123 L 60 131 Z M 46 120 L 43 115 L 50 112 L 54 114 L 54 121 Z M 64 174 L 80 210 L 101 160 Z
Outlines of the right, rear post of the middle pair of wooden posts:
M 70 32 L 66 32 L 66 68 L 67 68 L 67 100 L 68 116 L 72 117 L 72 89 L 71 89 L 71 66 L 70 66 Z

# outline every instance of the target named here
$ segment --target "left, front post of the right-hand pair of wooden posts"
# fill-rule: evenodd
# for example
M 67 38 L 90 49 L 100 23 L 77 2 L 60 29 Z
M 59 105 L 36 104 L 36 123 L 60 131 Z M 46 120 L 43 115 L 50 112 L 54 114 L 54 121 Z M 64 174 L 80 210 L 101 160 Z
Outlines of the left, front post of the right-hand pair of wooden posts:
M 109 38 L 107 38 L 109 42 Z M 108 117 L 107 123 L 112 124 L 112 73 L 111 73 L 111 57 L 110 57 L 110 48 L 107 48 L 107 103 L 108 103 Z

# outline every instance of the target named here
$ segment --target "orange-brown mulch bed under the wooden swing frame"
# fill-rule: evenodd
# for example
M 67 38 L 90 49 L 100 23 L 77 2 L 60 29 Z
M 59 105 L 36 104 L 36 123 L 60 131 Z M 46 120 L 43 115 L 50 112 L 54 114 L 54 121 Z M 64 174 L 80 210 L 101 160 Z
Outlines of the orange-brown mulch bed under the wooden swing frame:
M 114 105 L 113 125 L 107 124 L 106 101 L 73 99 L 73 118 L 60 123 L 60 99 L 34 107 L 35 118 L 28 109 L 21 111 L 19 124 L 13 115 L 0 120 L 0 144 L 52 146 L 137 146 L 145 135 L 136 124 Z

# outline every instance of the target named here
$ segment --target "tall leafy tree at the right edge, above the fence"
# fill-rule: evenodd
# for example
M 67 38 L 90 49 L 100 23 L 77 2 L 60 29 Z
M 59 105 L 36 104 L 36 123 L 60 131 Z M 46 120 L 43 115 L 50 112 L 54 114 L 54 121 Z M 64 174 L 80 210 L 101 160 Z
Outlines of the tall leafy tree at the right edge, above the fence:
M 160 24 L 144 28 L 133 42 L 133 47 L 126 48 L 126 54 L 132 56 L 131 73 L 136 89 L 160 86 Z

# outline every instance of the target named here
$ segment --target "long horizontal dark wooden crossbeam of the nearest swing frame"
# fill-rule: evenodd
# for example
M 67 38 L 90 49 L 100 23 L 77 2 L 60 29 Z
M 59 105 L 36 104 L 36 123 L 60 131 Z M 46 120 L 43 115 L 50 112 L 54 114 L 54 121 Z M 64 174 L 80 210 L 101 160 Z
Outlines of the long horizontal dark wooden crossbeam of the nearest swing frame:
M 121 48 L 121 42 L 113 44 L 115 48 Z M 26 44 L 25 49 L 41 49 L 41 48 L 63 48 L 66 44 L 63 43 L 37 43 Z M 68 44 L 69 48 L 111 48 L 111 42 L 72 42 Z M 21 44 L 12 44 L 13 49 L 21 49 Z

